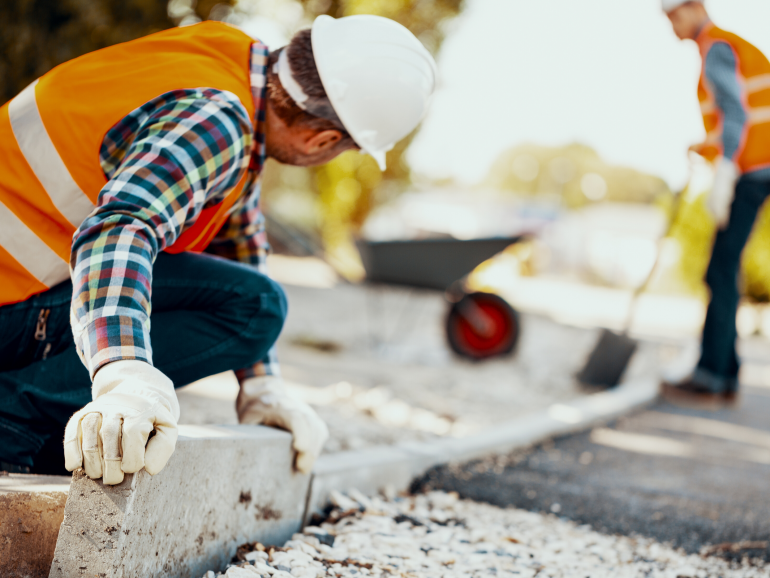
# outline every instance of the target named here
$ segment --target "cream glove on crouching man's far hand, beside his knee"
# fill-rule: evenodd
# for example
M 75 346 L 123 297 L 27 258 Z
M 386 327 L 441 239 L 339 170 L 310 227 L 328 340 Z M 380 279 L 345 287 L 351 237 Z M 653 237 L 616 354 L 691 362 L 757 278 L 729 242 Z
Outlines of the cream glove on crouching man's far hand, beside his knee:
M 312 471 L 329 437 L 329 429 L 313 408 L 286 391 L 280 377 L 245 379 L 235 409 L 240 423 L 269 425 L 291 432 L 297 450 L 297 469 L 303 474 Z

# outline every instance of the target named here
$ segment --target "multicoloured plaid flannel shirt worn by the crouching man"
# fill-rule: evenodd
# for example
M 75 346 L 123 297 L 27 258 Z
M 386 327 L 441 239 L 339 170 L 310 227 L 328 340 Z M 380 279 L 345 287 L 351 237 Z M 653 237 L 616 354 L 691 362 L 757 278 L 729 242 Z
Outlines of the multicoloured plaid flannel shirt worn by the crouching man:
M 170 247 L 201 211 L 248 178 L 229 220 L 208 252 L 266 272 L 269 250 L 259 209 L 265 160 L 268 49 L 251 49 L 257 118 L 231 93 L 211 88 L 162 94 L 128 114 L 105 135 L 100 161 L 108 183 L 96 210 L 75 232 L 72 328 L 93 378 L 122 359 L 152 363 L 150 287 L 159 251 Z M 239 379 L 277 375 L 274 353 Z

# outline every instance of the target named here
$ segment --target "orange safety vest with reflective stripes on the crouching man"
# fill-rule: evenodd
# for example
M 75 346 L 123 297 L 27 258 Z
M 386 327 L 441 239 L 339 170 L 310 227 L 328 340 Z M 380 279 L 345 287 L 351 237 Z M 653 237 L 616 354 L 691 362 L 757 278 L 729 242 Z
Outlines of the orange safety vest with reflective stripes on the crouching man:
M 0 108 L 0 305 L 69 278 L 72 236 L 107 183 L 102 141 L 131 111 L 206 87 L 235 94 L 253 122 L 253 42 L 219 22 L 165 30 L 57 66 Z M 246 178 L 166 251 L 205 249 Z

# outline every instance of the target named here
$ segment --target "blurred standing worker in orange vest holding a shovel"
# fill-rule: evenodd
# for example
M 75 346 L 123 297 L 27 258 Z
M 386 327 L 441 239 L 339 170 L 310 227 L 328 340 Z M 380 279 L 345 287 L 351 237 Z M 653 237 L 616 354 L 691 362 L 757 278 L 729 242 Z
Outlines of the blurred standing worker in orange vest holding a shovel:
M 711 302 L 701 358 L 689 378 L 664 384 L 663 393 L 674 401 L 734 402 L 741 253 L 770 195 L 770 62 L 714 26 L 702 0 L 663 0 L 663 10 L 676 35 L 695 41 L 703 59 L 698 99 L 706 141 L 692 150 L 716 165 L 707 205 L 718 227 L 706 273 Z

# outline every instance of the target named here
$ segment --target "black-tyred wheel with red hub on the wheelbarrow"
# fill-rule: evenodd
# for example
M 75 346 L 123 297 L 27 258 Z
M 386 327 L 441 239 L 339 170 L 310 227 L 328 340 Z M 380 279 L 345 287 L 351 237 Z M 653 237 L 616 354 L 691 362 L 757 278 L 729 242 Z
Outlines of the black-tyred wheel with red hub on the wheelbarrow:
M 492 293 L 468 293 L 453 303 L 446 321 L 452 350 L 474 360 L 513 352 L 519 339 L 519 316 L 508 302 Z

